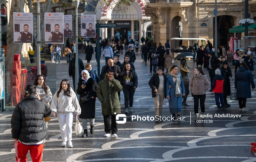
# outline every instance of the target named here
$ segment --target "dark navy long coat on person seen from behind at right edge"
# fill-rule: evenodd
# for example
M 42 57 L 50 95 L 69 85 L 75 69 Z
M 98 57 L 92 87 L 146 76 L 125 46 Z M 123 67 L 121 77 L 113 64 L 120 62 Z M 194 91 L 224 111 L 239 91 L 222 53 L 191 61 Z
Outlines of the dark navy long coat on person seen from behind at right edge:
M 252 98 L 250 85 L 255 88 L 253 74 L 245 67 L 239 67 L 235 74 L 235 88 L 237 98 Z

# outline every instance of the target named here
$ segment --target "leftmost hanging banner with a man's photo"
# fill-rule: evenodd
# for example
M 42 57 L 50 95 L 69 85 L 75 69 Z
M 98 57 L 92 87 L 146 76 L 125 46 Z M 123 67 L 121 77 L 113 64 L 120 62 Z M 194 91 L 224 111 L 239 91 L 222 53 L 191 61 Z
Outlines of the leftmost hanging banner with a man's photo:
M 33 14 L 13 12 L 14 43 L 33 43 Z

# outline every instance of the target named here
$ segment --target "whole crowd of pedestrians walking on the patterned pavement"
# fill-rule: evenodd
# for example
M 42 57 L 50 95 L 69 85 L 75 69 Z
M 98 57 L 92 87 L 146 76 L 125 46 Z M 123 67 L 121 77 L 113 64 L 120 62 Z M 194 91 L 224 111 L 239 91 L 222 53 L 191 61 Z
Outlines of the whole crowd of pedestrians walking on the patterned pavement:
M 115 41 L 115 40 L 114 40 Z M 132 40 L 133 41 L 133 40 Z M 99 99 L 102 107 L 102 115 L 104 117 L 105 137 L 111 136 L 117 138 L 118 125 L 116 123 L 116 115 L 121 113 L 120 93 L 124 94 L 124 111 L 125 114 L 132 113 L 134 93 L 138 87 L 138 75 L 135 71 L 134 62 L 138 54 L 137 42 L 125 41 L 124 61 L 119 61 L 120 54 L 122 55 L 122 41 L 118 40 L 116 45 L 112 46 L 111 42 L 103 40 L 105 47 L 102 46 L 103 56 L 105 57 L 106 65 L 102 67 L 100 76 L 93 69 L 90 60 L 93 55 L 93 46 L 89 42 L 85 48 L 87 64 L 83 65 L 79 59 L 79 82 L 75 83 L 75 58 L 76 47 L 73 50 L 65 48 L 67 53 L 67 62 L 69 62 L 69 75 L 73 78 L 73 88 L 67 79 L 61 81 L 57 92 L 52 95 L 49 86 L 46 84 L 44 75 L 38 75 L 35 78 L 34 85 L 26 86 L 25 98 L 20 101 L 15 107 L 12 115 L 12 138 L 15 139 L 16 149 L 25 148 L 23 153 L 17 154 L 17 159 L 26 158 L 29 143 L 36 145 L 40 153 L 33 155 L 41 156 L 44 140 L 47 138 L 47 123 L 50 121 L 50 115 L 58 118 L 61 131 L 61 147 L 73 147 L 72 143 L 72 125 L 73 116 L 79 116 L 82 121 L 83 134 L 81 137 L 88 136 L 87 121 L 90 123 L 90 134 L 94 133 L 95 113 L 96 113 L 96 98 Z M 128 43 L 126 43 L 128 42 Z M 151 94 L 155 103 L 155 116 L 162 116 L 164 98 L 168 99 L 169 111 L 172 116 L 172 121 L 180 122 L 182 106 L 189 106 L 186 103 L 186 98 L 189 95 L 189 90 L 194 99 L 195 121 L 198 120 L 198 107 L 200 100 L 201 115 L 205 112 L 206 93 L 213 92 L 215 95 L 215 103 L 217 109 L 226 109 L 231 105 L 227 102 L 227 96 L 231 94 L 230 81 L 233 80 L 232 71 L 230 68 L 230 57 L 223 55 L 220 59 L 214 55 L 214 47 L 208 42 L 203 50 L 203 46 L 197 48 L 195 44 L 194 52 L 196 53 L 195 61 L 197 67 L 193 70 L 192 78 L 188 78 L 189 67 L 186 64 L 186 58 L 180 60 L 180 67 L 172 65 L 174 55 L 169 51 L 170 43 L 166 41 L 165 48 L 159 43 L 159 46 L 149 46 L 149 41 L 141 39 L 142 59 L 147 64 L 150 62 L 150 78 L 148 85 L 151 88 Z M 75 44 L 74 44 L 75 46 Z M 55 52 L 55 46 L 51 46 L 51 51 Z M 134 52 L 135 48 L 135 52 Z M 56 46 L 58 50 L 58 46 Z M 75 51 L 75 52 L 74 52 Z M 236 97 L 239 101 L 239 110 L 246 110 L 247 98 L 251 98 L 251 89 L 254 90 L 255 83 L 253 81 L 252 71 L 254 70 L 254 60 L 256 59 L 256 48 L 253 52 L 250 47 L 240 54 L 237 49 L 232 56 L 232 64 L 235 66 L 235 89 Z M 57 52 L 58 53 L 58 52 Z M 72 58 L 72 59 L 70 59 Z M 243 60 L 241 60 L 243 58 Z M 56 59 L 56 62 L 58 59 Z M 54 62 L 54 61 L 52 61 Z M 241 64 L 240 64 L 241 62 Z M 204 64 L 204 67 L 202 67 Z M 201 67 L 198 67 L 200 65 Z M 237 69 L 239 67 L 239 69 Z M 209 72 L 210 81 L 205 76 L 204 69 Z M 180 72 L 179 72 L 180 69 Z M 166 74 L 164 74 L 166 72 Z M 169 74 L 169 75 L 168 75 Z M 75 89 L 75 84 L 78 85 Z M 76 93 L 79 95 L 77 98 Z M 51 102 L 51 104 L 50 104 Z M 27 107 L 23 113 L 23 108 Z M 38 107 L 38 110 L 34 110 Z M 34 128 L 35 125 L 30 125 L 31 116 L 35 115 L 37 127 L 41 127 L 40 131 Z M 111 122 L 110 122 L 111 117 Z M 201 119 L 204 120 L 204 117 Z M 24 120 L 24 121 L 23 121 Z M 23 124 L 19 124 L 19 122 Z M 155 121 L 161 122 L 161 121 Z M 33 136 L 34 138 L 27 138 Z M 33 151 L 30 150 L 33 154 Z

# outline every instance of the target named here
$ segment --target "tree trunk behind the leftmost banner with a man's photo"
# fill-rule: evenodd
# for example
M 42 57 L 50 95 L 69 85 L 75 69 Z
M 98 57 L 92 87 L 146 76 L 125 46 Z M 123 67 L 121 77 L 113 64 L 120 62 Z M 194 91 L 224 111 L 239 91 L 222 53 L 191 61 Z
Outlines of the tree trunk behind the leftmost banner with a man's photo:
M 12 0 L 10 19 L 7 31 L 7 54 L 5 67 L 6 69 L 12 68 L 13 57 L 15 54 L 21 53 L 22 44 L 13 43 L 13 12 L 24 12 L 25 1 L 24 0 Z

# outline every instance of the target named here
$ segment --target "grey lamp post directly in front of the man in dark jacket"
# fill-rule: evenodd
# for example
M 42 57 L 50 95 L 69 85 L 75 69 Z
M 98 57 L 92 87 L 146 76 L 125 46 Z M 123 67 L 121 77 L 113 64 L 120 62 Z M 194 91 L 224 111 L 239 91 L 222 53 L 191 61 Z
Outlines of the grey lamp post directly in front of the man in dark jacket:
M 78 17 L 78 13 L 77 13 L 77 8 L 79 6 L 79 3 L 80 3 L 80 0 L 73 0 L 74 2 L 74 6 L 76 8 L 76 72 L 75 72 L 75 89 L 77 90 L 77 83 L 78 83 L 78 80 L 79 80 L 79 67 L 78 67 L 78 29 L 77 29 L 77 26 L 78 26 L 78 20 L 77 20 L 77 17 Z M 74 90 L 76 92 L 76 90 Z

